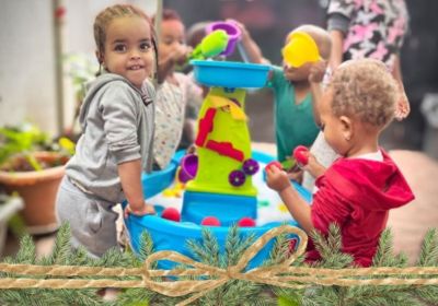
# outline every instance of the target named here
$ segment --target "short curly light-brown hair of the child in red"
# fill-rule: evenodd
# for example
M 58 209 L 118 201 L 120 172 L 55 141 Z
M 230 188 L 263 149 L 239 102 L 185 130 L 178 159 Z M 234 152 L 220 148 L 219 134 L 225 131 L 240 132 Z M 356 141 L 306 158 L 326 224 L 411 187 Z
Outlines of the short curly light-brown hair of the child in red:
M 335 116 L 351 115 L 374 127 L 391 122 L 399 91 L 381 61 L 359 59 L 343 63 L 333 73 L 330 87 Z

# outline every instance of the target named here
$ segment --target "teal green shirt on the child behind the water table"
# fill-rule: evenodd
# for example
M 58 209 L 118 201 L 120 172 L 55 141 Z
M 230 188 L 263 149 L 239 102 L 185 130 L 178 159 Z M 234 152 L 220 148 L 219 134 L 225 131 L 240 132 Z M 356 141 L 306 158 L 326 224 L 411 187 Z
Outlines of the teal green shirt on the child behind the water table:
M 313 117 L 312 95 L 299 105 L 295 101 L 293 84 L 286 80 L 280 67 L 273 67 L 268 86 L 274 90 L 274 125 L 277 158 L 283 162 L 297 145 L 312 145 L 320 131 Z

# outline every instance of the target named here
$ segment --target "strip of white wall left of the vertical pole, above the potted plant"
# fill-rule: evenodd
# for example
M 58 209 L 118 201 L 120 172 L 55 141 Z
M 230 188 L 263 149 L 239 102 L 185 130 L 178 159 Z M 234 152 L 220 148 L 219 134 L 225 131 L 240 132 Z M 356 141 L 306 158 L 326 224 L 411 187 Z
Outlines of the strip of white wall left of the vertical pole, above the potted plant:
M 0 0 L 0 126 L 25 119 L 54 130 L 50 1 Z

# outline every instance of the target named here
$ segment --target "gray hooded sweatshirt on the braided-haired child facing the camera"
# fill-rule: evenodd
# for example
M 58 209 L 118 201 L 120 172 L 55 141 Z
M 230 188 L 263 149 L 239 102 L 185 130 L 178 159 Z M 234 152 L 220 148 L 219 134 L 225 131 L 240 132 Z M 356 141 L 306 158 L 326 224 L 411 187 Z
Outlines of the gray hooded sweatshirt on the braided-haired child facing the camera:
M 141 158 L 142 168 L 151 169 L 155 91 L 146 82 L 140 92 L 123 76 L 104 73 L 88 84 L 79 117 L 82 136 L 66 174 L 110 202 L 125 200 L 118 164 Z

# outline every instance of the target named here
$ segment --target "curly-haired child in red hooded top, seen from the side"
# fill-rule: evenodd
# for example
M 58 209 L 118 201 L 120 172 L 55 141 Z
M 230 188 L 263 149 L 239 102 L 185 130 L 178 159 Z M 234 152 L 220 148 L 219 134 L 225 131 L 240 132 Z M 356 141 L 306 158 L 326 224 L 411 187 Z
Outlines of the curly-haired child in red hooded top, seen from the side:
M 355 263 L 372 263 L 390 209 L 402 207 L 414 195 L 391 157 L 379 148 L 381 131 L 393 119 L 397 87 L 383 63 L 372 59 L 341 64 L 319 105 L 321 129 L 327 143 L 343 157 L 325 170 L 309 156 L 309 170 L 319 188 L 310 207 L 291 187 L 287 174 L 267 169 L 267 185 L 279 192 L 302 228 L 327 233 L 341 227 L 344 252 Z M 320 258 L 313 244 L 308 260 Z

